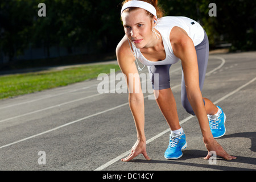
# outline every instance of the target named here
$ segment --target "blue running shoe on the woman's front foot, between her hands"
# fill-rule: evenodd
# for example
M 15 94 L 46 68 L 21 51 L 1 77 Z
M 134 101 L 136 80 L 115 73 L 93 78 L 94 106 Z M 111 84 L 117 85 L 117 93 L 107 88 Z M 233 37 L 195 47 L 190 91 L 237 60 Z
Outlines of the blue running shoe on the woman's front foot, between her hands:
M 164 152 L 164 158 L 166 159 L 179 159 L 182 156 L 181 150 L 187 147 L 185 133 L 170 134 L 169 146 Z

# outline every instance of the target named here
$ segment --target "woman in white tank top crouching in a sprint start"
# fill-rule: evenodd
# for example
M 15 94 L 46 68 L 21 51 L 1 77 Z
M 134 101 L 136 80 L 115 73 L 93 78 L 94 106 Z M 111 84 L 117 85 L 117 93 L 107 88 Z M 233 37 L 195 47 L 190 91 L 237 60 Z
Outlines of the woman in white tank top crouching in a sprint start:
M 123 2 L 121 17 L 125 36 L 119 42 L 116 53 L 121 71 L 126 76 L 129 88 L 129 105 L 137 129 L 137 142 L 131 154 L 123 162 L 146 152 L 144 134 L 144 97 L 141 88 L 135 92 L 135 80 L 129 80 L 129 74 L 138 75 L 135 58 L 147 65 L 151 74 L 152 88 L 158 92 L 156 102 L 171 129 L 170 143 L 164 157 L 178 159 L 181 150 L 187 146 L 185 133 L 179 125 L 176 102 L 170 88 L 169 69 L 180 59 L 183 76 L 181 83 L 181 100 L 188 113 L 196 115 L 203 141 L 208 152 L 216 151 L 225 159 L 236 159 L 227 154 L 214 138 L 225 134 L 225 114 L 201 95 L 208 62 L 208 38 L 199 23 L 185 17 L 166 16 L 158 7 L 158 1 Z M 162 17 L 162 18 L 161 18 Z M 140 68 L 139 68 L 140 69 Z M 158 73 L 158 79 L 155 74 Z M 133 79 L 139 79 L 133 77 Z M 137 80 L 139 81 L 139 80 Z M 130 84 L 129 84 L 130 83 Z M 156 96 L 156 94 L 155 94 Z M 210 125 L 209 125 L 210 123 Z M 204 158 L 209 159 L 210 154 Z

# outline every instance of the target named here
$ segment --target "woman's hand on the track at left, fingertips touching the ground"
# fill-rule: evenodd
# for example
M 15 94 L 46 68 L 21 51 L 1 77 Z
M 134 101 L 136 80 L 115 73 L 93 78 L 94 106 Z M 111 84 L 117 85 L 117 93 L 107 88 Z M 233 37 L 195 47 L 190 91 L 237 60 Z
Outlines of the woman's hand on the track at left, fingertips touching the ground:
M 122 159 L 122 162 L 128 162 L 139 154 L 143 154 L 144 158 L 150 160 L 146 152 L 146 142 L 142 142 L 138 139 L 134 146 L 131 148 L 131 154 L 126 158 Z

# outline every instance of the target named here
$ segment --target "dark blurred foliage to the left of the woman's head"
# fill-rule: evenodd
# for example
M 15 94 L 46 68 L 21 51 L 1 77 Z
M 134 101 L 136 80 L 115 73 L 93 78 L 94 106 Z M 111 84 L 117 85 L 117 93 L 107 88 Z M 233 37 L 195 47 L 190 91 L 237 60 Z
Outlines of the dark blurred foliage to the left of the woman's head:
M 39 17 L 39 3 L 46 17 Z M 0 0 L 0 51 L 10 57 L 28 47 L 86 46 L 108 52 L 123 36 L 119 0 Z

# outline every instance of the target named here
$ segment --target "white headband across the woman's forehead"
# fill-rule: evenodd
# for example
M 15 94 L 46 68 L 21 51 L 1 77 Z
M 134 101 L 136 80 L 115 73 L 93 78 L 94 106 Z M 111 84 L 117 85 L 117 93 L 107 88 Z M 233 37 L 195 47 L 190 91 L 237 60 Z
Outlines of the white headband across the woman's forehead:
M 150 3 L 147 3 L 144 1 L 137 1 L 137 0 L 132 0 L 132 1 L 126 2 L 122 7 L 121 15 L 122 15 L 123 11 L 129 7 L 139 7 L 144 10 L 147 10 L 149 13 L 156 16 L 156 9 L 154 6 L 152 6 Z M 158 18 L 158 16 L 156 16 L 156 18 Z

